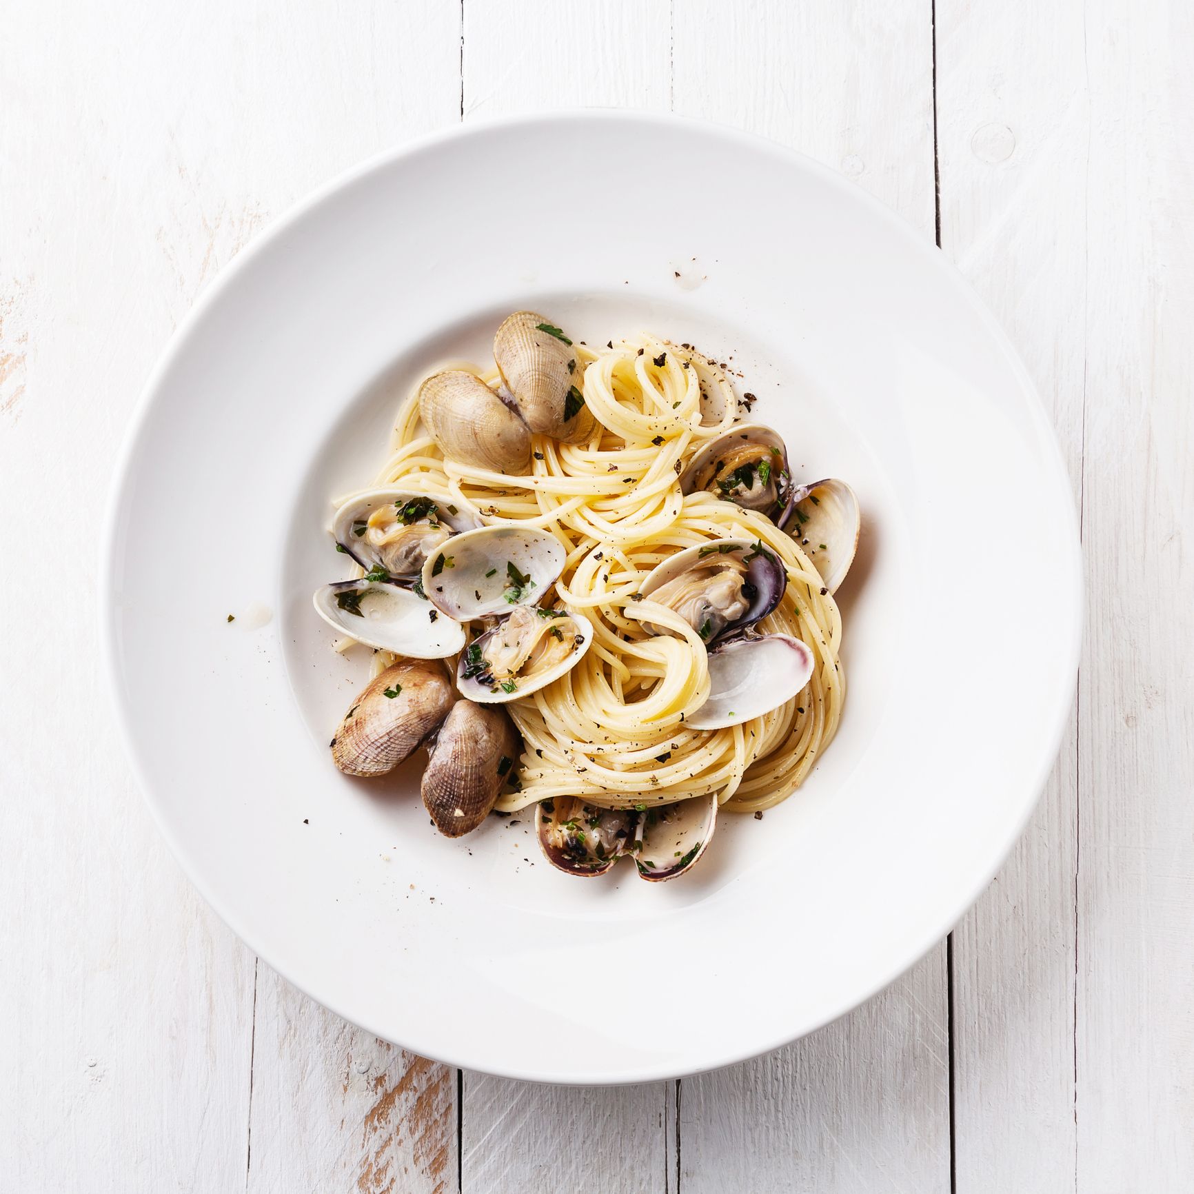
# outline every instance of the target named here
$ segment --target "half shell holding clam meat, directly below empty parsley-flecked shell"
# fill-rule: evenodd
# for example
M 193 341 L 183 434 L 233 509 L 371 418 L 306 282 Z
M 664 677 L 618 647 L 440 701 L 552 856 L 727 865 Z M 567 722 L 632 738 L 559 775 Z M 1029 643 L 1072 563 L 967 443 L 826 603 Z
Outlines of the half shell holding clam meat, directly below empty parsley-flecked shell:
M 482 704 L 515 701 L 576 667 L 592 638 L 592 622 L 576 610 L 516 605 L 461 654 L 456 687 Z

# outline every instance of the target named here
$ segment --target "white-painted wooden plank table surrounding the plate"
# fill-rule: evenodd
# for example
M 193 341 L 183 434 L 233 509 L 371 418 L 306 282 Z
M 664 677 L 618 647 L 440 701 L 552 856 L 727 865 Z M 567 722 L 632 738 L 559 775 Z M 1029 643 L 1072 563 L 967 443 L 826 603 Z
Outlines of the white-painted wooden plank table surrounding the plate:
M 1192 51 L 1186 0 L 7 0 L 0 1189 L 1194 1187 Z M 134 788 L 94 609 L 117 445 L 215 273 L 376 150 L 585 104 L 765 134 L 936 239 L 1040 387 L 1089 586 L 1053 777 L 949 941 L 790 1048 L 621 1090 L 458 1073 L 259 964 Z

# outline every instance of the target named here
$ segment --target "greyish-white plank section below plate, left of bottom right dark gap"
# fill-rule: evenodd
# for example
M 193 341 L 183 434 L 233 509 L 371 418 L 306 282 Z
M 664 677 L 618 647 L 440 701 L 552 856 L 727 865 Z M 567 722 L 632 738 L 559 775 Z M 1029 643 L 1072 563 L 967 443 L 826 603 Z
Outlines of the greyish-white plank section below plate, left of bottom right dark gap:
M 935 949 L 878 998 L 788 1048 L 685 1078 L 682 1194 L 946 1194 L 944 960 Z

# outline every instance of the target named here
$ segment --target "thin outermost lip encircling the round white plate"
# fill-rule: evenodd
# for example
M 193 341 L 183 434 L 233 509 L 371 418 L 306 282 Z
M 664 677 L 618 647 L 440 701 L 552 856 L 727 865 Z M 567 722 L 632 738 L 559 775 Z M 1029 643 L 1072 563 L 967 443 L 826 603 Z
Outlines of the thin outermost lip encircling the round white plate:
M 118 578 L 118 556 L 116 547 L 118 538 L 119 512 L 125 505 L 127 493 L 131 485 L 131 466 L 139 454 L 141 441 L 146 432 L 149 412 L 160 398 L 162 381 L 173 365 L 174 358 L 190 339 L 196 325 L 204 319 L 210 308 L 215 307 L 222 300 L 224 291 L 236 282 L 239 276 L 247 270 L 253 261 L 256 261 L 258 256 L 272 246 L 276 240 L 284 236 L 287 232 L 289 232 L 301 220 L 325 205 L 333 197 L 351 189 L 376 172 L 394 166 L 404 159 L 413 158 L 425 149 L 454 141 L 468 141 L 473 137 L 485 137 L 491 133 L 500 130 L 567 124 L 574 121 L 656 125 L 665 133 L 670 129 L 688 128 L 703 133 L 704 135 L 737 142 L 740 147 L 770 155 L 771 158 L 777 158 L 790 165 L 798 166 L 800 170 L 810 174 L 817 176 L 820 180 L 830 184 L 831 186 L 849 192 L 853 199 L 862 201 L 863 205 L 879 220 L 885 221 L 896 235 L 901 236 L 905 241 L 910 242 L 915 247 L 918 256 L 921 256 L 927 263 L 933 263 L 933 269 L 936 269 L 941 275 L 943 275 L 947 283 L 954 288 L 954 291 L 960 297 L 965 298 L 967 306 L 971 308 L 972 313 L 978 316 L 980 324 L 989 334 L 990 343 L 999 350 L 1001 356 L 1007 361 L 1011 374 L 1017 380 L 1021 390 L 1027 399 L 1027 412 L 1030 414 L 1032 420 L 1036 425 L 1036 430 L 1040 433 L 1041 447 L 1053 461 L 1054 474 L 1065 482 L 1063 486 L 1065 500 L 1061 505 L 1064 506 L 1066 521 L 1065 540 L 1070 544 L 1070 550 L 1067 553 L 1069 560 L 1065 561 L 1070 618 L 1065 633 L 1059 635 L 1059 640 L 1063 641 L 1058 654 L 1064 657 L 1065 663 L 1065 667 L 1061 669 L 1059 675 L 1063 675 L 1065 681 L 1064 685 L 1059 689 L 1055 696 L 1051 698 L 1051 703 L 1054 707 L 1054 714 L 1050 733 L 1046 738 L 1048 749 L 1042 751 L 1041 758 L 1036 762 L 1034 778 L 1030 784 L 1032 798 L 1024 802 L 1022 811 L 1014 819 L 1014 821 L 1009 821 L 1008 829 L 999 835 L 995 849 L 989 855 L 992 861 L 987 867 L 977 872 L 975 878 L 966 888 L 965 897 L 960 906 L 950 909 L 948 912 L 942 913 L 936 921 L 928 924 L 928 928 L 919 934 L 907 950 L 905 950 L 906 956 L 901 956 L 894 968 L 885 971 L 881 977 L 868 984 L 866 990 L 854 1002 L 851 1002 L 848 1007 L 843 1007 L 836 1014 L 824 1016 L 818 1022 L 808 1027 L 804 1027 L 793 1034 L 782 1035 L 780 1039 L 768 1041 L 758 1047 L 752 1046 L 745 1052 L 741 1050 L 731 1050 L 728 1053 L 724 1053 L 713 1060 L 702 1060 L 700 1064 L 687 1065 L 679 1069 L 675 1065 L 644 1065 L 626 1072 L 602 1072 L 599 1075 L 579 1073 L 572 1075 L 567 1079 L 561 1079 L 556 1076 L 547 1076 L 534 1070 L 519 1070 L 518 1067 L 503 1070 L 479 1069 L 467 1058 L 453 1055 L 450 1050 L 443 1051 L 437 1047 L 432 1053 L 429 1053 L 413 1040 L 413 1038 L 419 1035 L 418 1032 L 413 1032 L 410 1035 L 404 1033 L 402 1035 L 405 1039 L 399 1040 L 394 1038 L 388 1029 L 386 1032 L 381 1032 L 375 1026 L 362 1023 L 352 1015 L 346 1014 L 344 1009 L 337 1007 L 334 1003 L 324 1002 L 324 999 L 315 996 L 303 985 L 290 978 L 284 970 L 277 967 L 271 961 L 270 950 L 263 950 L 259 944 L 252 940 L 252 934 L 242 931 L 241 917 L 234 909 L 226 906 L 223 900 L 219 899 L 209 888 L 209 885 L 199 876 L 197 869 L 192 864 L 192 860 L 189 856 L 185 844 L 178 839 L 177 835 L 167 825 L 160 801 L 154 795 L 153 787 L 148 782 L 148 776 L 134 734 L 133 712 L 125 701 L 125 694 L 121 682 L 118 611 L 113 597 L 117 590 Z M 479 1073 L 490 1073 L 494 1077 L 512 1078 L 516 1081 L 549 1085 L 566 1084 L 578 1087 L 613 1087 L 659 1082 L 671 1078 L 691 1077 L 693 1075 L 707 1073 L 728 1065 L 763 1057 L 764 1054 L 790 1045 L 796 1040 L 820 1032 L 829 1024 L 841 1020 L 843 1016 L 849 1015 L 863 1003 L 869 1002 L 881 991 L 886 990 L 894 981 L 897 981 L 901 975 L 906 974 L 913 966 L 922 961 L 941 941 L 941 938 L 950 933 L 962 917 L 965 917 L 966 913 L 974 906 L 978 898 L 983 894 L 991 880 L 1007 862 L 1016 843 L 1023 835 L 1029 819 L 1039 806 L 1048 776 L 1052 773 L 1060 753 L 1065 730 L 1076 700 L 1076 679 L 1084 633 L 1085 589 L 1079 522 L 1075 506 L 1072 480 L 1070 478 L 1065 457 L 1061 454 L 1061 447 L 1058 441 L 1057 431 L 1048 412 L 1046 411 L 1040 392 L 1028 373 L 1027 367 L 1021 359 L 1015 345 L 1013 344 L 1011 338 L 996 318 L 995 313 L 983 301 L 981 296 L 971 284 L 970 279 L 966 278 L 961 270 L 959 270 L 958 266 L 944 254 L 944 252 L 942 252 L 938 245 L 927 241 L 924 234 L 900 213 L 890 208 L 847 176 L 830 166 L 824 165 L 823 162 L 817 161 L 813 158 L 810 158 L 807 154 L 792 149 L 770 137 L 745 131 L 732 124 L 639 107 L 565 107 L 547 111 L 519 112 L 484 119 L 470 119 L 468 123 L 448 125 L 447 128 L 437 129 L 435 131 L 405 140 L 399 144 L 390 146 L 389 148 L 382 149 L 362 159 L 346 170 L 332 176 L 330 179 L 285 208 L 278 216 L 270 221 L 266 227 L 263 228 L 252 239 L 252 241 L 235 256 L 235 258 L 233 258 L 232 261 L 220 270 L 216 277 L 190 307 L 186 315 L 174 328 L 159 352 L 154 365 L 133 405 L 128 424 L 122 435 L 119 449 L 115 456 L 111 480 L 109 482 L 103 530 L 99 538 L 99 550 L 100 586 L 98 599 L 98 629 L 101 642 L 101 654 L 104 658 L 103 670 L 105 672 L 107 691 L 111 697 L 124 755 L 131 767 L 133 775 L 141 790 L 142 800 L 144 805 L 148 806 L 158 832 L 166 842 L 183 874 L 190 881 L 191 886 L 199 893 L 204 903 L 236 935 L 236 937 L 239 937 L 240 941 L 254 953 L 257 958 L 264 960 L 266 965 L 275 970 L 275 972 L 287 983 L 302 991 L 308 998 L 314 999 L 321 1007 L 327 1008 L 334 1015 L 340 1016 L 343 1020 L 361 1028 L 362 1030 L 373 1033 L 380 1039 L 390 1041 L 400 1048 L 405 1048 L 410 1052 L 432 1057 L 435 1060 L 444 1065 L 468 1069 Z

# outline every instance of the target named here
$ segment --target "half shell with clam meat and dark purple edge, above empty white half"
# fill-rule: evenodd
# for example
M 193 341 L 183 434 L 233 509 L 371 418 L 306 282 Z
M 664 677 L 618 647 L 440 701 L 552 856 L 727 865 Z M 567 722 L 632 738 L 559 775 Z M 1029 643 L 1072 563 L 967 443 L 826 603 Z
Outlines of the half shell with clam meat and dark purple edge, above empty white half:
M 762 543 L 722 538 L 669 556 L 639 592 L 676 610 L 712 646 L 767 617 L 787 583 L 783 562 Z

